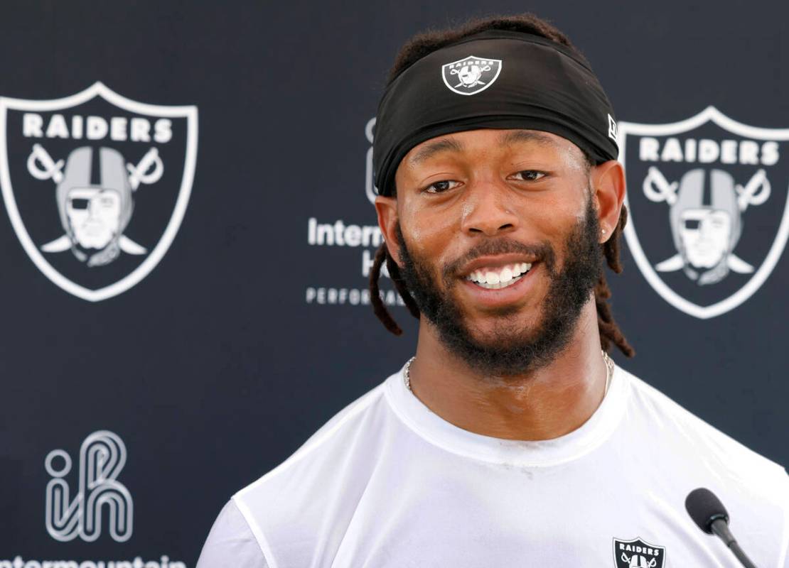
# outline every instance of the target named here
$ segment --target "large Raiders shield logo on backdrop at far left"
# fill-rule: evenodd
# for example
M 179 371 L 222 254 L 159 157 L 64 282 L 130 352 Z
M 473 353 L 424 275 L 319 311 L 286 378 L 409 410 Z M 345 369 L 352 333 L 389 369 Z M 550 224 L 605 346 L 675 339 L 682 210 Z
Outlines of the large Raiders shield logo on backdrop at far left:
M 189 202 L 195 106 L 134 102 L 101 83 L 47 101 L 0 97 L 11 223 L 54 284 L 91 302 L 159 263 Z

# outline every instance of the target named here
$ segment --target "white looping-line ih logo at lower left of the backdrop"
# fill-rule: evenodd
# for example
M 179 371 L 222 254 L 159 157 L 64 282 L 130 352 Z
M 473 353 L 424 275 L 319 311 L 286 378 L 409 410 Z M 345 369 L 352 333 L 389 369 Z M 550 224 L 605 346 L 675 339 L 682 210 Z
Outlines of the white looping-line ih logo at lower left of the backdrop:
M 132 496 L 116 481 L 125 463 L 126 447 L 118 435 L 107 430 L 93 432 L 80 448 L 79 489 L 72 499 L 64 479 L 71 470 L 71 458 L 65 451 L 50 451 L 44 460 L 52 476 L 47 484 L 47 533 L 62 542 L 77 536 L 92 542 L 101 535 L 102 514 L 106 514 L 113 540 L 129 540 Z

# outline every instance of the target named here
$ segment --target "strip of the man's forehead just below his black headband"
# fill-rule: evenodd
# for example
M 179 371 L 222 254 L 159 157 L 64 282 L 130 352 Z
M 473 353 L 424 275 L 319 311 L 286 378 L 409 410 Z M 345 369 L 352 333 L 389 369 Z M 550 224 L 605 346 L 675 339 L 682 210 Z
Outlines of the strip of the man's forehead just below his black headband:
M 503 130 L 482 128 L 479 130 L 453 132 L 452 134 L 425 140 L 423 143 L 411 148 L 406 157 L 402 159 L 400 165 L 418 166 L 445 152 L 454 154 L 470 152 L 476 155 L 481 149 L 507 149 L 510 147 L 540 148 L 567 156 L 568 158 L 571 157 L 581 161 L 584 159 L 581 149 L 574 143 L 551 132 L 520 128 Z

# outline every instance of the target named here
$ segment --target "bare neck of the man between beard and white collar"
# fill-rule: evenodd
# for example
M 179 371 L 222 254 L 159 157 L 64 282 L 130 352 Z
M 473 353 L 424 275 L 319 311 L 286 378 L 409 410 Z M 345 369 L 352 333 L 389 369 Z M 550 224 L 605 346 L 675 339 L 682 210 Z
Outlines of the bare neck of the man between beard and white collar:
M 470 368 L 421 321 L 410 367 L 414 395 L 462 429 L 507 440 L 551 440 L 578 429 L 603 400 L 607 369 L 594 303 L 585 306 L 567 347 L 547 366 L 514 377 Z

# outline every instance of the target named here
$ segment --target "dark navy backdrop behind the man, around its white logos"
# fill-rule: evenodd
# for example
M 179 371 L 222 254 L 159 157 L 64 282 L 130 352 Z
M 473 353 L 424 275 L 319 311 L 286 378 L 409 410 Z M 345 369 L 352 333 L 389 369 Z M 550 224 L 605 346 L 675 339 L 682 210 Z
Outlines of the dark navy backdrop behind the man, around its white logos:
M 133 101 L 196 106 L 199 134 L 178 234 L 118 295 L 90 302 L 64 291 L 31 261 L 7 216 L 0 222 L 0 566 L 17 556 L 164 564 L 162 555 L 193 566 L 233 492 L 405 362 L 415 322 L 393 307 L 406 335 L 390 336 L 357 292 L 372 245 L 352 245 L 375 224 L 365 126 L 409 35 L 523 9 L 581 47 L 619 121 L 672 123 L 712 105 L 743 124 L 789 128 L 785 2 L 3 3 L 0 95 L 62 98 L 101 81 Z M 17 129 L 0 136 L 17 160 L 35 142 Z M 14 167 L 22 174 L 6 193 L 51 191 L 34 189 L 24 161 Z M 634 199 L 641 179 L 628 181 Z M 772 202 L 786 201 L 787 183 L 773 176 Z M 145 191 L 159 190 L 135 194 L 130 236 L 154 216 Z M 50 194 L 42 203 L 42 215 L 56 211 Z M 665 205 L 655 211 L 667 217 Z M 769 246 L 777 226 L 748 225 L 761 218 L 750 214 L 746 231 Z M 323 232 L 323 245 L 311 244 L 310 218 L 359 233 L 346 229 L 350 242 L 328 245 Z M 666 239 L 667 222 L 664 232 L 639 237 Z M 53 225 L 51 238 L 61 233 Z M 80 270 L 88 279 L 106 268 L 58 254 L 77 280 Z M 758 268 L 753 254 L 746 260 Z M 789 461 L 786 259 L 744 303 L 700 318 L 667 303 L 623 256 L 612 304 L 638 355 L 616 360 L 735 439 Z M 73 498 L 80 444 L 100 430 L 128 451 L 117 482 L 133 499 L 133 533 L 118 542 L 105 521 L 93 542 L 60 542 L 45 524 L 45 458 L 58 448 L 71 456 Z

